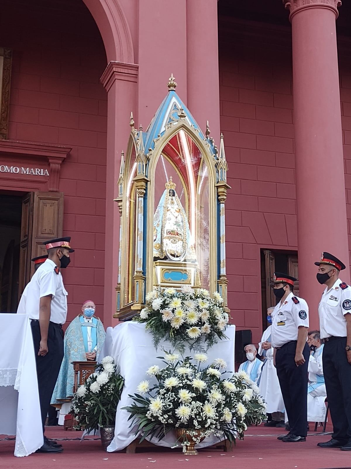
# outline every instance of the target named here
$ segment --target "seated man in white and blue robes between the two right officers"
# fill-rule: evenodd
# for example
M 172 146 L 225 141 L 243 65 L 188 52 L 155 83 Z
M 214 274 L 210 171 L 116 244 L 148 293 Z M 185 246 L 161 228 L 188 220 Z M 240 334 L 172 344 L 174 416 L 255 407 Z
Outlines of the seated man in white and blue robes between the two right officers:
M 322 365 L 324 344 L 320 332 L 309 332 L 307 343 L 311 349 L 308 362 L 307 421 L 324 422 L 326 412 L 324 401 L 327 397 L 327 391 L 324 384 Z

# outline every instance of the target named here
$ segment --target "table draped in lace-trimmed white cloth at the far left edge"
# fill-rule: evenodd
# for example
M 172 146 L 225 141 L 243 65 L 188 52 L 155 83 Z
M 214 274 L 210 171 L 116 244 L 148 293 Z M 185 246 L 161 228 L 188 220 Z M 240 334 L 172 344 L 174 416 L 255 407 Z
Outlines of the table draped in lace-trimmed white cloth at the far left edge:
M 0 434 L 16 435 L 15 456 L 28 456 L 44 443 L 29 317 L 0 319 Z

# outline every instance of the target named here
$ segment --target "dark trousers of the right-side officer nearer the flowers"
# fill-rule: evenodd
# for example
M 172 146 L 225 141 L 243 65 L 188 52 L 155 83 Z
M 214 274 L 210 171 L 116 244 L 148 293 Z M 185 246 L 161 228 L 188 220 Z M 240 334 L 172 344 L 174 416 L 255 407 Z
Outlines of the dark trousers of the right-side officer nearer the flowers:
M 296 344 L 297 341 L 294 340 L 277 350 L 276 368 L 290 432 L 305 437 L 307 435 L 307 368 L 310 349 L 306 343 L 302 352 L 305 363 L 296 366 Z

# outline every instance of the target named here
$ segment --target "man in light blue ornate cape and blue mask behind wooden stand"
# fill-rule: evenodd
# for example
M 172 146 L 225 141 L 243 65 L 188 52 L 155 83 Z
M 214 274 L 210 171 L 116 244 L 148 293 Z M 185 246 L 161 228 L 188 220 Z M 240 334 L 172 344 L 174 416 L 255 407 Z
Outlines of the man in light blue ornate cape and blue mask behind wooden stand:
M 76 316 L 67 327 L 65 334 L 65 355 L 57 378 L 51 405 L 60 408 L 59 425 L 69 413 L 73 396 L 74 370 L 72 362 L 95 361 L 105 340 L 105 330 L 99 318 L 95 318 L 95 303 L 85 301 L 81 314 Z

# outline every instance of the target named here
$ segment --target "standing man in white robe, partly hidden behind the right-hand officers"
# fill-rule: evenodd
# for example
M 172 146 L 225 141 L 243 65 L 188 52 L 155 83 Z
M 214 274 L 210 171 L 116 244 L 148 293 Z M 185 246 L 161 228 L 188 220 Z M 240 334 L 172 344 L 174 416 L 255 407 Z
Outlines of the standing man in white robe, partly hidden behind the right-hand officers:
M 271 315 L 274 308 L 268 308 L 267 321 L 271 323 Z M 271 346 L 271 328 L 269 325 L 262 335 L 261 342 L 258 344 L 258 353 L 264 356 L 261 377 L 258 387 L 262 399 L 266 402 L 267 413 L 272 414 L 271 422 L 264 424 L 269 427 L 285 427 L 284 411 L 285 405 L 280 391 L 277 370 L 273 364 L 273 348 Z

